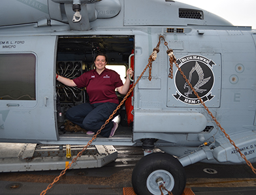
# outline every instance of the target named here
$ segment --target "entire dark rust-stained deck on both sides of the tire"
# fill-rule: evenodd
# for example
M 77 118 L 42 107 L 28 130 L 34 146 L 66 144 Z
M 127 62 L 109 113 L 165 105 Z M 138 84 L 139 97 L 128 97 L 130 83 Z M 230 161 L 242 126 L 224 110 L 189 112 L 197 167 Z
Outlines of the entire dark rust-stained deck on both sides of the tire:
M 132 187 L 131 174 L 143 157 L 140 147 L 115 146 L 118 158 L 102 168 L 67 170 L 46 194 L 123 194 Z M 253 163 L 256 166 L 256 163 Z M 40 194 L 61 170 L 0 173 L 0 194 Z M 256 175 L 246 164 L 196 163 L 185 167 L 186 188 L 195 195 L 251 195 L 256 193 Z M 214 174 L 213 174 L 214 173 Z

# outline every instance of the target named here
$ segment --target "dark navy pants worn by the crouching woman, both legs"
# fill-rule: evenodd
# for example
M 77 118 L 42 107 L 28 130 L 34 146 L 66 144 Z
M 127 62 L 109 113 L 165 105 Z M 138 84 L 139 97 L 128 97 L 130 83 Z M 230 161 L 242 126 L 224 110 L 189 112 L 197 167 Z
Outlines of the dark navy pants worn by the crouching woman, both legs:
M 76 123 L 87 131 L 97 132 L 113 113 L 118 105 L 116 103 L 84 103 L 76 105 L 67 110 L 66 118 Z M 106 127 L 101 130 L 100 135 L 109 137 L 113 123 L 110 121 Z

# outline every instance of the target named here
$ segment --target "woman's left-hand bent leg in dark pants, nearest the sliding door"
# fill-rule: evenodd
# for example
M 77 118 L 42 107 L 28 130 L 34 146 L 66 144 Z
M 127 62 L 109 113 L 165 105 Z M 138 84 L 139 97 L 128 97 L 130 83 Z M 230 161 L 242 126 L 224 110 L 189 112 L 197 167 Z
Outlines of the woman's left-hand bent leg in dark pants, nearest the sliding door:
M 83 125 L 84 118 L 93 110 L 94 108 L 89 103 L 83 103 L 76 105 L 71 109 L 67 110 L 66 118 L 73 123 L 76 123 L 83 129 L 86 129 Z M 87 130 L 87 129 L 86 129 Z

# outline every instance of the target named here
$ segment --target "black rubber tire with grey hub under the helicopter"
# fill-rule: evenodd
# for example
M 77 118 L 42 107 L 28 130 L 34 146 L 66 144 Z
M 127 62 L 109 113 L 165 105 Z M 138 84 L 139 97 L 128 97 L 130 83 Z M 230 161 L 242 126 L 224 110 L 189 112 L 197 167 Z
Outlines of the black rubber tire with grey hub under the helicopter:
M 152 153 L 146 155 L 133 169 L 132 183 L 137 195 L 161 195 L 157 177 L 163 178 L 165 188 L 174 195 L 184 191 L 186 183 L 185 170 L 180 161 L 167 153 Z M 168 194 L 163 190 L 164 194 Z

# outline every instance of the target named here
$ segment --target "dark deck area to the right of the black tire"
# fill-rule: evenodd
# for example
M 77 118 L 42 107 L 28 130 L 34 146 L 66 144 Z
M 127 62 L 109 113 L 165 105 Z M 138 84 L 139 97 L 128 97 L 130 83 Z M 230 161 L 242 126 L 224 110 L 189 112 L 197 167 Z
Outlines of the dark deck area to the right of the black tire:
M 256 163 L 253 163 L 256 167 Z M 198 162 L 185 167 L 186 187 L 195 195 L 256 194 L 256 174 L 247 164 L 207 164 Z

